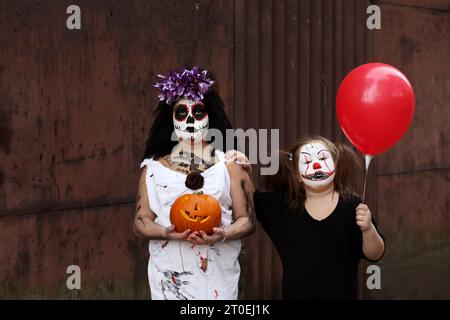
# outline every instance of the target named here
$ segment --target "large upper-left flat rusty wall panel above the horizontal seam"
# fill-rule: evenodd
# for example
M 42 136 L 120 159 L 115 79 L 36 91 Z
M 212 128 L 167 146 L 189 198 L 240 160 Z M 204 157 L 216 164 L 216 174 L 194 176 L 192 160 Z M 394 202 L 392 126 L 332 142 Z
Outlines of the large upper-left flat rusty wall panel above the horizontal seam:
M 134 175 L 117 164 L 137 172 L 156 104 L 152 69 L 217 68 L 229 99 L 232 28 L 216 23 L 229 1 L 215 10 L 211 1 L 85 1 L 80 31 L 65 28 L 61 2 L 1 5 L 2 40 L 15 35 L 0 49 L 4 118 L 15 125 L 2 161 L 3 214 L 132 201 Z

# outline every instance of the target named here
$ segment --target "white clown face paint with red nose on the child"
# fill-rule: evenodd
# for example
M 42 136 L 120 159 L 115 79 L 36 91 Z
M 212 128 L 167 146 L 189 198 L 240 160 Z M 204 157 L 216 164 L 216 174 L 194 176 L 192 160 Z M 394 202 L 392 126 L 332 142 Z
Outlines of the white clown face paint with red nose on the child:
M 330 151 L 320 142 L 305 144 L 300 149 L 298 169 L 303 183 L 320 188 L 334 180 L 334 161 Z

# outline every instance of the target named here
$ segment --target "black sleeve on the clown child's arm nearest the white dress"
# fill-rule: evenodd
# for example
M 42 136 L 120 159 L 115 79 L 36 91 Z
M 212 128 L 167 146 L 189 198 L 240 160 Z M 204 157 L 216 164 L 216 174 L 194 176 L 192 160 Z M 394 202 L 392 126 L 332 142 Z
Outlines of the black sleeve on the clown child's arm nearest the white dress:
M 284 206 L 277 192 L 255 192 L 253 197 L 258 221 L 277 247 L 283 250 L 286 237 L 284 225 Z

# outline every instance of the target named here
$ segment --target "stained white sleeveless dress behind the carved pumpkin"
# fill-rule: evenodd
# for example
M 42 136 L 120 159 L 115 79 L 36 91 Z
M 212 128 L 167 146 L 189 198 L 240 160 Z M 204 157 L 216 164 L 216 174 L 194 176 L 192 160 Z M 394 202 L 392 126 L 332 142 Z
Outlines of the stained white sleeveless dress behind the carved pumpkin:
M 219 161 L 201 173 L 204 178 L 201 191 L 219 201 L 222 226 L 228 226 L 234 222 L 231 179 L 224 153 L 217 150 L 216 154 Z M 168 227 L 173 202 L 193 191 L 185 186 L 184 173 L 171 170 L 152 159 L 145 159 L 141 168 L 144 166 L 147 166 L 145 182 L 150 209 L 156 215 L 155 223 Z M 237 299 L 240 251 L 240 240 L 217 242 L 211 246 L 178 240 L 150 240 L 148 279 L 152 299 Z M 207 259 L 207 268 L 203 271 L 204 259 Z

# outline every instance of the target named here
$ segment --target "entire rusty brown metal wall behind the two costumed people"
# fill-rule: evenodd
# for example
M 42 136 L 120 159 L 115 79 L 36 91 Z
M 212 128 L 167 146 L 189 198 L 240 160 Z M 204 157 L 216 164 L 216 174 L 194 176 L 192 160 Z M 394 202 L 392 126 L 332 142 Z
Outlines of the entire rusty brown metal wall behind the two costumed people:
M 450 296 L 440 284 L 450 262 L 448 1 L 377 1 L 377 31 L 365 28 L 364 0 L 78 3 L 81 31 L 65 28 L 70 1 L 0 2 L 0 297 L 148 298 L 146 242 L 129 221 L 156 73 L 212 70 L 234 126 L 279 128 L 284 147 L 314 133 L 346 141 L 335 92 L 376 60 L 410 78 L 417 111 L 371 168 L 368 202 L 388 251 L 385 287 L 361 296 Z M 280 297 L 280 262 L 260 228 L 241 260 L 240 298 Z M 70 264 L 82 268 L 81 291 L 65 286 Z

